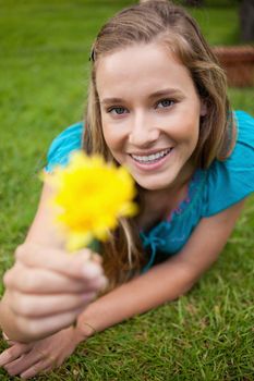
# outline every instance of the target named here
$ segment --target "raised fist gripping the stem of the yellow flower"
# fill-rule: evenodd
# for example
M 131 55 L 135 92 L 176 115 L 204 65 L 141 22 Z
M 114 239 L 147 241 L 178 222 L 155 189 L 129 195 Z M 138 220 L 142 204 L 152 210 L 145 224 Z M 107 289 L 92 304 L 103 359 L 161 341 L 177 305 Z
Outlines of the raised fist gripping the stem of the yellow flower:
M 75 321 L 105 287 L 101 266 L 88 261 L 90 250 L 76 251 L 24 244 L 16 250 L 16 262 L 5 273 L 5 295 L 1 314 L 14 316 L 19 334 L 3 331 L 9 339 L 31 342 L 51 335 Z

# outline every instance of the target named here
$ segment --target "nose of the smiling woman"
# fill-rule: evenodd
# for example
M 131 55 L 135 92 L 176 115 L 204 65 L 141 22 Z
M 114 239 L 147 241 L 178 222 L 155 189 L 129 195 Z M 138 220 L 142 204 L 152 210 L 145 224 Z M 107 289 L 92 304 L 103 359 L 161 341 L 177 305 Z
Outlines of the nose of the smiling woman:
M 159 137 L 159 128 L 153 123 L 145 112 L 140 111 L 133 114 L 132 125 L 129 134 L 131 145 L 140 148 L 152 146 Z

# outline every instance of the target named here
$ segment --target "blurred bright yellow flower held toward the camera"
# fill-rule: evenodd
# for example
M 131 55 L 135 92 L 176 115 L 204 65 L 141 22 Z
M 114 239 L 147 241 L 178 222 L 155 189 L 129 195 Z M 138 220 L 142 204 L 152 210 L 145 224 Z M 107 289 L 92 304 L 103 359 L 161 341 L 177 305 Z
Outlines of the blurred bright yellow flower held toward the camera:
M 83 151 L 71 155 L 66 167 L 57 167 L 44 180 L 55 188 L 52 204 L 56 222 L 66 236 L 72 251 L 97 238 L 105 241 L 120 217 L 132 217 L 135 187 L 124 168 L 106 163 L 99 156 Z

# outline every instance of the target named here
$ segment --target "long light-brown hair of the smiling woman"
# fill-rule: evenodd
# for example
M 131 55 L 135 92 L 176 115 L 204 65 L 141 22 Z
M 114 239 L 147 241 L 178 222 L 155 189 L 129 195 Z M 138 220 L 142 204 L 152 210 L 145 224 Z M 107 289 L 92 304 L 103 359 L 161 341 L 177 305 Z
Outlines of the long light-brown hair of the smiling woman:
M 196 22 L 181 8 L 165 0 L 148 0 L 116 14 L 100 29 L 92 49 L 92 78 L 83 146 L 114 161 L 102 135 L 96 67 L 106 54 L 138 44 L 162 44 L 189 70 L 207 113 L 201 116 L 199 138 L 193 153 L 197 167 L 206 169 L 223 160 L 234 143 L 234 123 L 227 98 L 226 74 L 203 38 Z M 144 261 L 134 221 L 121 221 L 110 243 L 104 245 L 105 268 L 114 283 L 133 274 Z M 130 253 L 132 263 L 130 263 Z M 129 271 L 130 270 L 130 271 Z M 124 273 L 124 275 L 122 275 Z

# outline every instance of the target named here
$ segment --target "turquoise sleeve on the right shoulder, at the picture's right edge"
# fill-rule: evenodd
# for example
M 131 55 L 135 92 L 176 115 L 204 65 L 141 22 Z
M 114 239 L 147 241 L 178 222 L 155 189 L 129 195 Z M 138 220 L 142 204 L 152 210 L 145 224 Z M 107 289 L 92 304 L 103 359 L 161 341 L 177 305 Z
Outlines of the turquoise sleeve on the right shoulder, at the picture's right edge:
M 254 119 L 243 111 L 237 111 L 234 116 L 235 146 L 227 160 L 216 160 L 208 170 L 204 217 L 214 216 L 254 192 Z

